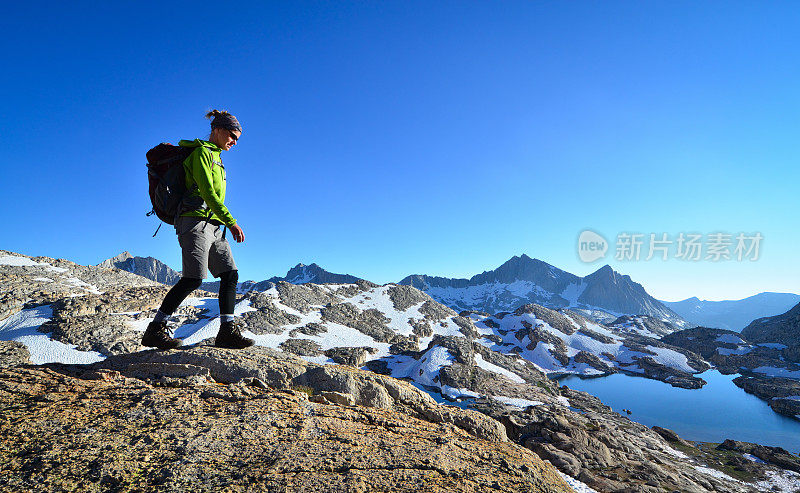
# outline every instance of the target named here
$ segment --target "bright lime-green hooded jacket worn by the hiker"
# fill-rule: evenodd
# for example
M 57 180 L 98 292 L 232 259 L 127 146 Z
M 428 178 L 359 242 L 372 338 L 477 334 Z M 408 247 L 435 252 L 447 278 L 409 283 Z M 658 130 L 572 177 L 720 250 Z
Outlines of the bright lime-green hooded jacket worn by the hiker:
M 222 166 L 222 149 L 207 140 L 181 140 L 181 147 L 196 147 L 183 162 L 186 171 L 186 189 L 189 194 L 184 199 L 187 212 L 181 216 L 216 219 L 230 227 L 236 224 L 228 208 L 225 207 L 225 167 Z

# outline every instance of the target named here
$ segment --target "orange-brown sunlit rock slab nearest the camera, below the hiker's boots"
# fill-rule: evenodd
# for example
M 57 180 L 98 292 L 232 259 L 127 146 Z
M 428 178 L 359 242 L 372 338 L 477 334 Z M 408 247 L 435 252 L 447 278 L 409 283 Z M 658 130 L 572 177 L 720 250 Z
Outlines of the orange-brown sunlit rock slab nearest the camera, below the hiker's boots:
M 571 491 L 533 452 L 451 421 L 260 380 L 172 383 L 0 370 L 0 489 Z

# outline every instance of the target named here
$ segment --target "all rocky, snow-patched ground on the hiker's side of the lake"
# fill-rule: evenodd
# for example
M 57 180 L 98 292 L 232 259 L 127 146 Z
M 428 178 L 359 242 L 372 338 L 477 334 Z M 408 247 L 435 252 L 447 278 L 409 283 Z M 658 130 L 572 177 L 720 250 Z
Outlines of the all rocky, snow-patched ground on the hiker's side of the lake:
M 657 341 L 652 320 L 604 326 L 538 305 L 456 314 L 409 286 L 281 282 L 237 305 L 257 346 L 209 346 L 216 300 L 198 292 L 177 317 L 186 346 L 151 351 L 141 330 L 166 287 L 44 257 L 0 260 L 15 263 L 0 268 L 12 286 L 0 334 L 15 339 L 0 343 L 2 489 L 358 491 L 372 469 L 384 482 L 365 490 L 568 491 L 559 472 L 602 492 L 800 484 L 797 456 L 686 442 L 542 371 L 669 381 L 706 364 Z M 83 364 L 30 364 L 48 358 Z

